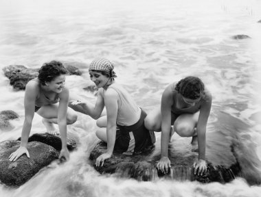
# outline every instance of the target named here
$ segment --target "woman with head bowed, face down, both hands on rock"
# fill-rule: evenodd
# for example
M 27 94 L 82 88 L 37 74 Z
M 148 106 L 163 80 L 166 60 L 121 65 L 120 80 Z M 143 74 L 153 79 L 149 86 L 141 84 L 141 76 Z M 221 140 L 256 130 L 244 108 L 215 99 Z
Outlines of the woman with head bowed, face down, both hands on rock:
M 212 105 L 212 96 L 198 77 L 185 77 L 170 84 L 161 97 L 161 109 L 148 114 L 145 126 L 150 131 L 161 131 L 161 159 L 157 168 L 168 172 L 168 143 L 176 131 L 181 137 L 192 137 L 192 145 L 198 142 L 198 160 L 194 173 L 203 174 L 205 161 L 205 133 Z M 173 129 L 172 126 L 173 125 Z

